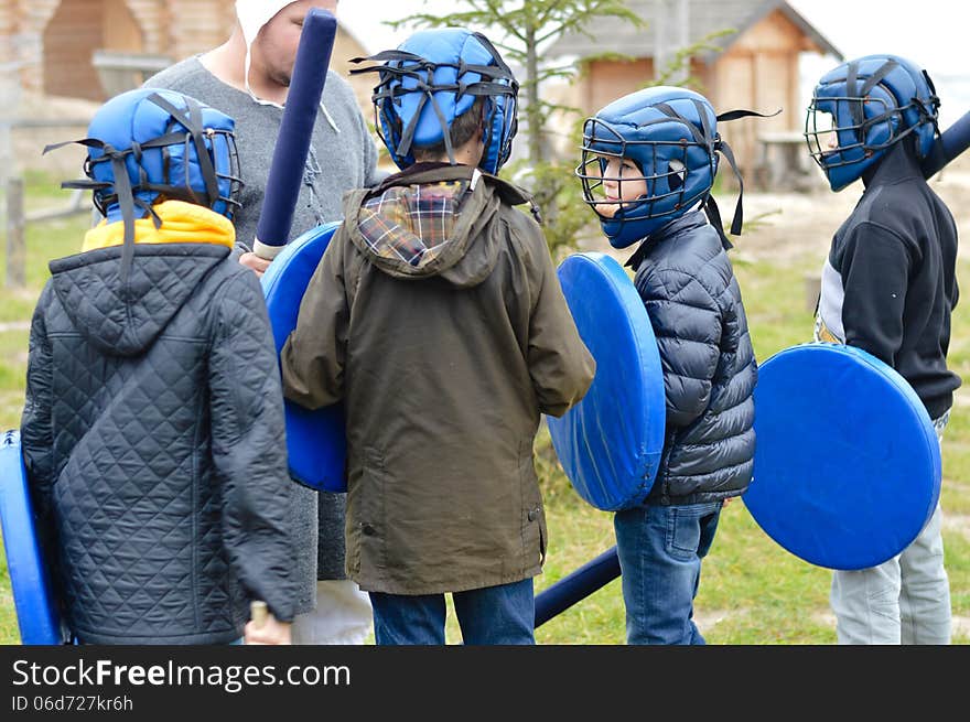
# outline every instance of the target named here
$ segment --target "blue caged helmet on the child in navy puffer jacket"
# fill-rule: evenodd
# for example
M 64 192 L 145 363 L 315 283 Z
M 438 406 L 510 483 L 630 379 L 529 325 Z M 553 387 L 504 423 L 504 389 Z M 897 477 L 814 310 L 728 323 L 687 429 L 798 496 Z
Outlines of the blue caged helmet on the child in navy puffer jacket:
M 586 119 L 575 173 L 611 246 L 626 248 L 708 201 L 722 150 L 716 121 L 707 98 L 668 86 L 624 96 Z M 642 176 L 626 181 L 646 183 L 646 193 L 621 204 L 612 216 L 600 208 L 616 205 L 606 198 L 604 181 L 622 182 L 604 177 L 610 158 L 633 160 Z M 740 233 L 740 224 L 734 233 Z

